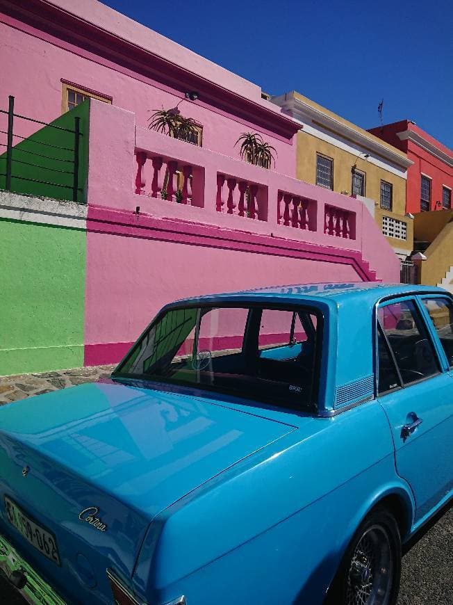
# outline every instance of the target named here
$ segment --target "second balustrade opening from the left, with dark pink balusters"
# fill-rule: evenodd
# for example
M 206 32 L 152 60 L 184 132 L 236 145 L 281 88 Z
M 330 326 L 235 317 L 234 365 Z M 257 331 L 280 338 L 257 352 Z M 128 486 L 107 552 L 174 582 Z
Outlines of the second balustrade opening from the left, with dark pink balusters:
M 266 194 L 265 186 L 217 174 L 215 209 L 217 212 L 267 220 Z

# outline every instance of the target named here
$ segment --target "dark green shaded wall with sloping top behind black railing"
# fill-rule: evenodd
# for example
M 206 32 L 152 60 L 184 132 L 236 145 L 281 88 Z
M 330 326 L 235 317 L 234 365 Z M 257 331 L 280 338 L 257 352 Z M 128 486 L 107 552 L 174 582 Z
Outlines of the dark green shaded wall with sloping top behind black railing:
M 82 136 L 79 138 L 78 202 L 86 202 L 88 178 L 88 134 L 90 99 L 71 111 L 63 113 L 51 124 L 74 131 L 74 118 L 79 117 Z M 13 132 L 17 133 L 20 118 L 14 118 Z M 38 124 L 36 124 L 38 126 Z M 17 138 L 13 138 L 13 142 Z M 51 147 L 64 147 L 56 149 Z M 43 157 L 47 156 L 47 157 Z M 11 191 L 28 193 L 57 200 L 72 200 L 74 179 L 74 134 L 45 126 L 13 147 Z M 49 170 L 50 169 L 50 170 Z M 69 174 L 67 174 L 69 172 Z M 0 188 L 6 188 L 6 153 L 0 155 Z M 19 178 L 21 177 L 21 178 Z M 36 181 L 47 181 L 40 183 Z M 53 184 L 49 184 L 53 183 Z

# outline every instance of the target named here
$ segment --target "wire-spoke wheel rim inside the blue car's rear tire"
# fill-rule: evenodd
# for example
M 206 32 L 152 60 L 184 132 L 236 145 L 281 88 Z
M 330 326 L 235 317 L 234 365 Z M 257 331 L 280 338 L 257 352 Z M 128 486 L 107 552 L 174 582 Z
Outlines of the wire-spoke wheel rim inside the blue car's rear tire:
M 393 583 L 393 558 L 383 526 L 365 530 L 352 555 L 347 576 L 347 605 L 387 605 Z

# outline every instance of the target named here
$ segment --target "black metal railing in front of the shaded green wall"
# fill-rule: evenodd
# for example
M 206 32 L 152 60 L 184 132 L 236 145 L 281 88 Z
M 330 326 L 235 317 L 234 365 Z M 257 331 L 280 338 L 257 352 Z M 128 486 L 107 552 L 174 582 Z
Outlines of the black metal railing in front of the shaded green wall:
M 57 126 L 56 124 L 49 124 L 48 122 L 42 122 L 41 120 L 35 120 L 34 118 L 28 118 L 26 115 L 21 115 L 19 113 L 14 113 L 14 97 L 10 95 L 8 97 L 8 111 L 4 109 L 0 109 L 0 113 L 8 114 L 8 130 L 0 130 L 1 134 L 6 134 L 6 145 L 4 143 L 0 143 L 0 147 L 6 147 L 6 172 L 0 172 L 1 177 L 5 177 L 5 188 L 6 191 L 11 191 L 11 179 L 21 179 L 24 181 L 35 182 L 48 186 L 61 187 L 64 189 L 72 190 L 72 201 L 77 202 L 77 197 L 79 191 L 82 191 L 81 187 L 79 187 L 79 150 L 80 150 L 80 138 L 82 136 L 81 128 L 80 128 L 80 120 L 79 117 L 74 117 L 74 129 L 64 128 L 62 126 Z M 61 145 L 53 145 L 52 143 L 47 143 L 45 141 L 37 140 L 33 138 L 33 134 L 29 137 L 20 136 L 19 134 L 14 133 L 14 124 L 15 118 L 19 120 L 26 120 L 28 122 L 34 122 L 35 124 L 42 124 L 44 127 L 49 127 L 55 129 L 56 131 L 62 131 L 69 134 L 74 135 L 74 145 L 72 147 L 63 147 Z M 36 133 L 35 133 L 36 134 Z M 32 140 L 34 145 L 42 145 L 42 153 L 37 153 L 31 150 L 17 149 L 13 145 L 13 138 L 22 139 L 22 140 Z M 70 159 L 58 158 L 55 156 L 46 155 L 47 148 L 51 148 L 54 150 L 58 150 L 59 152 L 68 152 L 68 155 L 71 154 L 72 157 Z M 33 158 L 31 161 L 24 161 L 22 159 L 17 159 L 17 157 L 13 160 L 13 152 L 18 151 L 21 153 L 29 154 L 31 156 L 40 157 L 44 160 L 51 160 L 52 162 L 62 162 L 62 168 L 52 168 L 51 166 L 42 166 L 38 163 L 33 163 Z M 47 151 L 49 152 L 49 151 Z M 26 156 L 28 158 L 28 156 Z M 49 170 L 49 172 L 55 173 L 57 176 L 55 179 L 51 180 L 42 180 L 42 179 L 32 179 L 30 177 L 24 177 L 23 175 L 14 174 L 13 166 L 16 164 L 22 166 L 30 166 L 33 168 L 37 168 L 40 170 Z M 69 168 L 67 166 L 69 164 L 70 169 L 65 170 L 65 168 Z M 65 184 L 63 182 L 58 182 L 58 174 L 62 175 L 72 175 L 72 184 Z

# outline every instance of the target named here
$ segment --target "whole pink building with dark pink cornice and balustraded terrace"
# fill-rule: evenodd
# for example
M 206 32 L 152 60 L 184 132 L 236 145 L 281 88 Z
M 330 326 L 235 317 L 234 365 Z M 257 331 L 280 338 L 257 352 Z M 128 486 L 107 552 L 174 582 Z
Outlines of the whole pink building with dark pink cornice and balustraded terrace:
M 58 205 L 86 234 L 83 342 L 67 345 L 82 347 L 85 364 L 119 360 L 174 298 L 399 281 L 399 261 L 359 200 L 294 178 L 299 124 L 261 88 L 94 0 L 0 1 L 0 10 L 3 106 L 14 95 L 17 113 L 49 122 L 90 97 L 87 207 Z M 201 124 L 195 145 L 147 129 L 152 110 L 177 104 Z M 240 160 L 245 131 L 277 150 L 270 170 Z M 33 220 L 27 203 L 28 218 L 8 217 Z M 52 204 L 41 200 L 40 224 L 56 225 Z

